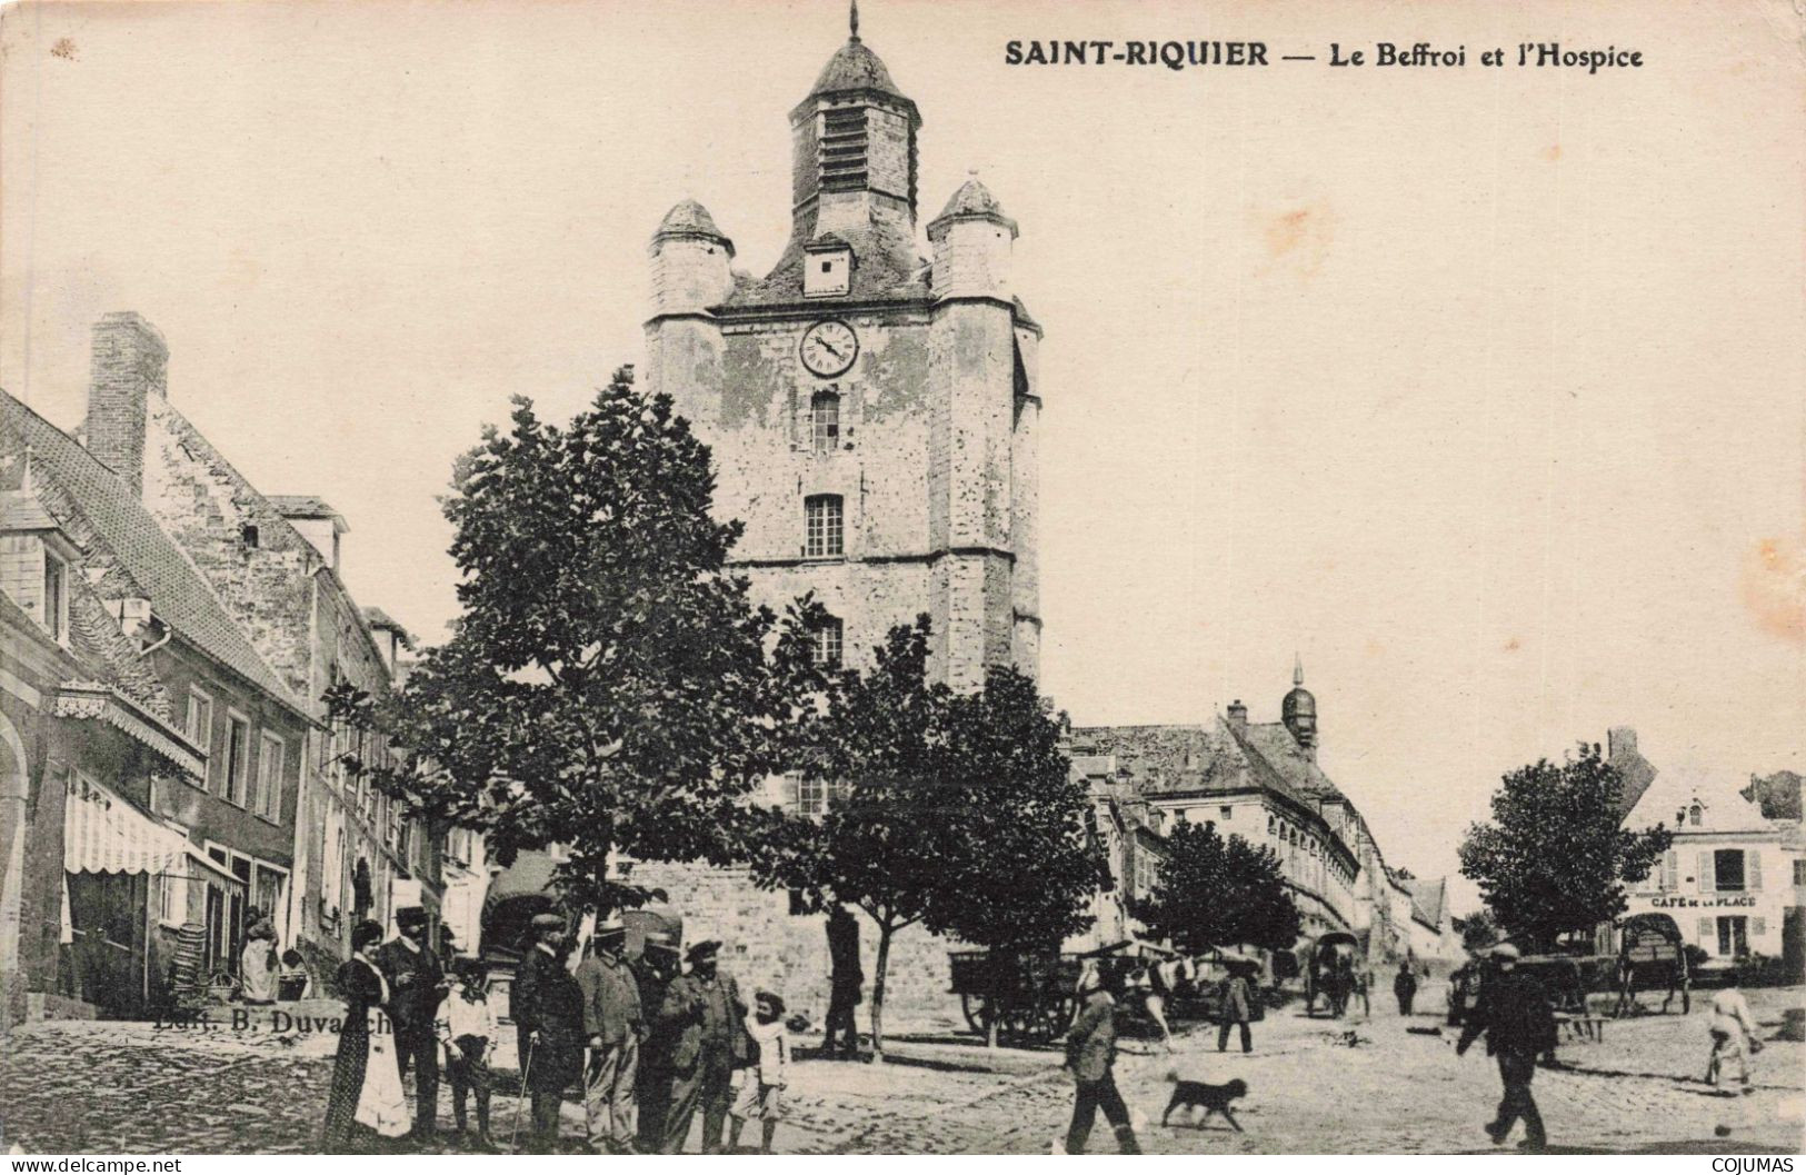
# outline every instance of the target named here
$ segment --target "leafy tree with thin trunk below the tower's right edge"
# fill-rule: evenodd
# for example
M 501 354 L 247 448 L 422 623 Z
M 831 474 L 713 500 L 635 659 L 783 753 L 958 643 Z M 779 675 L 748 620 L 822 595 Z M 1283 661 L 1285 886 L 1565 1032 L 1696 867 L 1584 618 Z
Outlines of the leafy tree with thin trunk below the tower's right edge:
M 963 837 L 928 927 L 988 947 L 999 964 L 1058 951 L 1091 926 L 1087 898 L 1109 875 L 1087 837 L 1089 792 L 1060 750 L 1062 723 L 1042 710 L 1033 680 L 993 669 L 981 692 L 950 701 L 943 730 L 941 779 L 959 795 Z M 997 1027 L 991 1016 L 991 1047 Z

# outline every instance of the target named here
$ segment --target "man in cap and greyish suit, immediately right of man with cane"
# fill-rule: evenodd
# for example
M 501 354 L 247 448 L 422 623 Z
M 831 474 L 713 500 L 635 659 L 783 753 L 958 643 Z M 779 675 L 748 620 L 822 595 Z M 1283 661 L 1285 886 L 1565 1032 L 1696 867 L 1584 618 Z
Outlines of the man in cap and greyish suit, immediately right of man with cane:
M 634 1148 L 634 1083 L 639 1076 L 639 1041 L 647 1034 L 639 1010 L 639 983 L 621 960 L 627 926 L 618 918 L 596 927 L 591 954 L 576 969 L 583 989 L 583 1032 L 589 1065 L 583 1072 L 583 1112 L 591 1150 L 616 1155 Z

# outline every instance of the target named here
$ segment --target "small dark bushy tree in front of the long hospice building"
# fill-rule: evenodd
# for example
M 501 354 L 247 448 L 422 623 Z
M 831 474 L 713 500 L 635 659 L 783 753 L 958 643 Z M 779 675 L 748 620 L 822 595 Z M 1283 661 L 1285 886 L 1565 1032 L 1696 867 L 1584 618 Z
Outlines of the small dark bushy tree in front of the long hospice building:
M 1299 907 L 1286 889 L 1279 855 L 1215 822 L 1181 822 L 1167 837 L 1167 860 L 1134 915 L 1187 951 L 1246 944 L 1289 951 L 1299 940 Z

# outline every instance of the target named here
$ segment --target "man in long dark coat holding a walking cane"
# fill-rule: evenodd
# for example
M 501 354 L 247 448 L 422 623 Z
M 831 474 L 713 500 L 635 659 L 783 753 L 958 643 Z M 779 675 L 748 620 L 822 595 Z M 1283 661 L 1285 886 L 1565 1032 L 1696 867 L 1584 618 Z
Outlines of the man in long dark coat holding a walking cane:
M 533 945 L 515 969 L 509 1012 L 520 1048 L 522 1079 L 533 1094 L 533 1148 L 558 1144 L 558 1106 L 583 1074 L 583 989 L 565 969 L 565 920 L 533 918 Z

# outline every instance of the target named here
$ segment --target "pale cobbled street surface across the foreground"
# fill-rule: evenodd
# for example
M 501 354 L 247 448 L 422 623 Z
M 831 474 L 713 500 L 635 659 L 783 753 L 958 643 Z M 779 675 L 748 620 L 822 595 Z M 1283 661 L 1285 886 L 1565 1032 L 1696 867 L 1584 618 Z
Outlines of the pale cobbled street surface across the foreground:
M 1764 1036 L 1801 991 L 1755 992 Z M 1414 1030 L 1407 1030 L 1414 1029 Z M 1481 1123 L 1499 1097 L 1497 1070 L 1476 1047 L 1454 1056 L 1438 1020 L 1335 1023 L 1295 1009 L 1255 1025 L 1255 1050 L 1219 1054 L 1215 1034 L 1181 1034 L 1178 1052 L 1125 1041 L 1118 1081 L 1131 1110 L 1150 1119 L 1150 1153 L 1474 1152 L 1490 1150 Z M 1347 1041 L 1353 1032 L 1353 1045 Z M 1557 1150 L 1799 1150 L 1806 1052 L 1772 1041 L 1755 1061 L 1757 1092 L 1719 1097 L 1701 1081 L 1705 1018 L 1611 1021 L 1602 1043 L 1571 1043 L 1562 1067 L 1539 1070 L 1537 1101 Z M 0 1061 L 7 1146 L 29 1153 L 307 1153 L 314 1148 L 332 1068 L 332 1038 L 273 1034 L 258 1025 L 211 1032 L 144 1023 L 45 1023 L 9 1041 Z M 1205 1128 L 1161 1128 L 1167 1074 L 1241 1077 L 1235 1115 Z M 441 1094 L 446 1095 L 444 1092 Z M 901 1039 L 885 1067 L 804 1059 L 793 1065 L 791 1117 L 778 1148 L 795 1153 L 1038 1153 L 1064 1132 L 1071 1086 L 1051 1050 L 986 1054 L 970 1043 Z M 497 1103 L 506 1139 L 513 1099 Z M 1714 1126 L 1730 1124 L 1728 1139 Z M 450 1108 L 441 1103 L 441 1124 Z M 565 1104 L 565 1133 L 582 1114 Z M 442 1146 L 455 1150 L 446 1135 Z M 692 1141 L 694 1146 L 694 1141 Z M 1093 1150 L 1111 1150 L 1103 1123 Z

